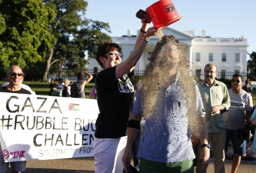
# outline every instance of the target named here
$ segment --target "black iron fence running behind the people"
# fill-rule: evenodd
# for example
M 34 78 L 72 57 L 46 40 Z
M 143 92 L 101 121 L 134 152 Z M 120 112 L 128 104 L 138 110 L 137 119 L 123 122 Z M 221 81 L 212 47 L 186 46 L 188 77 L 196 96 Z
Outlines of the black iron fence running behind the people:
M 50 91 L 50 81 L 51 79 L 55 79 L 55 83 L 57 84 L 57 81 L 59 78 L 65 78 L 69 79 L 72 82 L 75 82 L 77 80 L 76 74 L 78 71 L 88 71 L 93 75 L 93 79 L 90 81 L 90 83 L 86 84 L 84 88 L 85 97 L 89 98 L 89 94 L 91 92 L 91 88 L 94 86 L 94 78 L 96 77 L 97 73 L 100 71 L 99 69 L 77 69 L 77 70 L 55 70 L 55 71 L 48 71 L 47 72 L 47 81 L 43 81 L 43 76 L 45 73 L 44 69 L 40 68 L 27 68 L 23 69 L 24 73 L 24 81 L 23 84 L 28 85 L 31 87 L 33 91 L 36 92 L 37 95 L 49 95 Z M 131 78 L 132 83 L 136 84 L 139 80 L 139 78 L 143 75 L 144 70 L 135 70 L 134 71 L 134 77 Z M 216 79 L 219 81 L 222 81 L 227 85 L 228 88 L 231 88 L 231 79 L 232 76 L 235 74 L 235 72 L 219 72 Z M 247 73 L 246 72 L 240 72 L 240 74 L 243 76 L 244 81 L 247 79 Z M 6 72 L 0 71 L 0 86 L 4 84 L 5 82 L 8 82 L 6 78 Z M 195 74 L 193 74 L 195 78 L 197 79 L 204 79 L 204 72 L 201 70 L 197 70 Z M 85 77 L 84 79 L 86 79 Z M 253 96 L 254 104 L 256 104 L 256 90 L 253 90 L 253 93 L 255 96 Z

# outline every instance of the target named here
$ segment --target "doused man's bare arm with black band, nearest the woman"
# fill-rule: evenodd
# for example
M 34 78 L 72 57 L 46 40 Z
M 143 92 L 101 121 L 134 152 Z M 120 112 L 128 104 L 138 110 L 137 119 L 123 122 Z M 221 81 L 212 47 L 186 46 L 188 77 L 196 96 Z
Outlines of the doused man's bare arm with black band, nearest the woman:
M 137 116 L 135 114 L 131 114 L 130 120 L 136 120 L 136 121 L 141 121 L 141 116 Z M 134 139 L 136 138 L 138 130 L 135 128 L 130 128 L 128 127 L 128 137 L 127 137 L 127 143 L 125 147 L 125 152 L 124 156 L 122 158 L 123 164 L 124 164 L 124 169 L 127 173 L 129 173 L 128 168 L 126 166 L 126 161 L 128 161 L 128 165 L 131 163 L 131 158 L 132 158 L 132 152 L 131 152 L 131 147 Z

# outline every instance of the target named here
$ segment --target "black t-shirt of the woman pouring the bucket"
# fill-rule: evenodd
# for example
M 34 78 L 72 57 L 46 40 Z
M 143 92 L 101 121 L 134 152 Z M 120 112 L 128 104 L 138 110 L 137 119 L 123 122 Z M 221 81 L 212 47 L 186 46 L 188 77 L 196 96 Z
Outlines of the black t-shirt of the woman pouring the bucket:
M 96 121 L 96 138 L 120 138 L 126 136 L 129 110 L 133 102 L 134 88 L 129 78 L 133 71 L 116 78 L 116 66 L 104 69 L 95 78 L 97 102 L 100 113 Z

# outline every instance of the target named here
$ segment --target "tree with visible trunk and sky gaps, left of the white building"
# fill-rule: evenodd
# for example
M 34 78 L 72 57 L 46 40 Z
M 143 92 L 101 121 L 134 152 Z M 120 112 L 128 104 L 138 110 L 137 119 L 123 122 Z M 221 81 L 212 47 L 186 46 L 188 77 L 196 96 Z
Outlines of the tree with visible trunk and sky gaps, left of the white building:
M 43 0 L 47 7 L 56 13 L 55 20 L 49 24 L 56 44 L 46 56 L 46 71 L 43 80 L 47 79 L 47 72 L 51 69 L 84 69 L 88 56 L 93 57 L 97 45 L 110 36 L 102 30 L 110 32 L 108 23 L 86 19 L 87 2 L 84 0 Z

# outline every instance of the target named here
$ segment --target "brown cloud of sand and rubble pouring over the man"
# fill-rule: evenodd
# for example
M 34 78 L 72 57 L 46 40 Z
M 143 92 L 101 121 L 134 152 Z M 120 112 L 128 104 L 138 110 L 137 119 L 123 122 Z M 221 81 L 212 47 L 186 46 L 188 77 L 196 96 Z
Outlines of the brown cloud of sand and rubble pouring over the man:
M 142 113 L 145 119 L 162 116 L 161 105 L 166 89 L 180 73 L 179 83 L 183 87 L 186 106 L 188 109 L 189 129 L 192 136 L 198 136 L 202 125 L 198 121 L 196 109 L 196 88 L 194 78 L 191 76 L 190 62 L 183 51 L 182 44 L 173 35 L 163 35 L 162 29 L 158 30 L 158 43 L 146 66 L 143 77 L 139 81 L 141 90 Z M 157 117 L 154 117 L 157 120 Z M 160 120 L 160 118 L 159 118 Z

